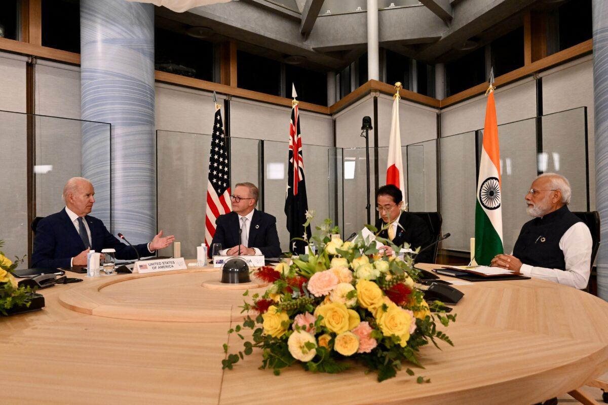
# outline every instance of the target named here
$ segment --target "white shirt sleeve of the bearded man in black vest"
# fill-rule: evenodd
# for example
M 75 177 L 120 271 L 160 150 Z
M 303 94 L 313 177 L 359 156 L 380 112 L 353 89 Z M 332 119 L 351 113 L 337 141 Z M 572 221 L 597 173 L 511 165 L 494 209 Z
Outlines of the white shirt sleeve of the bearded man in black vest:
M 585 288 L 591 272 L 591 250 L 593 240 L 584 222 L 570 226 L 559 239 L 559 248 L 564 252 L 566 269 L 533 267 L 522 264 L 520 273 L 528 277 L 553 281 L 574 288 Z

